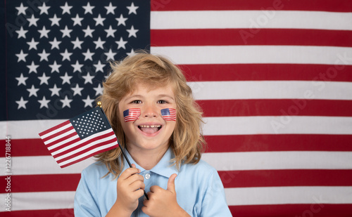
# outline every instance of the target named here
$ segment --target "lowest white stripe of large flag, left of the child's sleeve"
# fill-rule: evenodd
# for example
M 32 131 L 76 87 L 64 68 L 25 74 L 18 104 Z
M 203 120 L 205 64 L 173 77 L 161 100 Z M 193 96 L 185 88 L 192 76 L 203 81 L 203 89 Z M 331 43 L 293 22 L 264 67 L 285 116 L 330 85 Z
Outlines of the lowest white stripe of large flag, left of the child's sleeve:
M 2 202 L 6 194 L 0 194 Z M 73 209 L 74 191 L 66 192 L 11 192 L 11 211 L 42 209 Z M 3 204 L 3 207 L 4 204 Z M 4 211 L 4 209 L 1 209 Z

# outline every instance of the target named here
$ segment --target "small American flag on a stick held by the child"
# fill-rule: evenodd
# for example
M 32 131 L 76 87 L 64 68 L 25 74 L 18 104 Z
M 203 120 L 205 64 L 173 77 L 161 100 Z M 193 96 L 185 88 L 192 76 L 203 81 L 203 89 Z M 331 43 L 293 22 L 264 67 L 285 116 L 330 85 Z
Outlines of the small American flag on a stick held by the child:
M 61 168 L 118 147 L 118 140 L 100 107 L 58 124 L 39 136 Z

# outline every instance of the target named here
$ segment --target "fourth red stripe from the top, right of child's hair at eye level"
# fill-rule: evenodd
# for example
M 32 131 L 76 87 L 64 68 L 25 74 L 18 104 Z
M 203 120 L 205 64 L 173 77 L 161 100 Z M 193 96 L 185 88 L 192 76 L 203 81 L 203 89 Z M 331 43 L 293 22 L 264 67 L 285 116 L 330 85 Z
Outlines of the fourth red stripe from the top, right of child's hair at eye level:
M 352 117 L 352 100 L 197 100 L 204 117 L 336 116 Z

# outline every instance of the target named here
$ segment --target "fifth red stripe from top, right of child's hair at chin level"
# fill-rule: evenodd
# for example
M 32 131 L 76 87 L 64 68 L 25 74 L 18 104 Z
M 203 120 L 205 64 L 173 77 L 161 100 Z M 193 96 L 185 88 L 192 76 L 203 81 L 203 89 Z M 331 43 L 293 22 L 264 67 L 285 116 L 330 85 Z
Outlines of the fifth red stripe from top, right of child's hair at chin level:
M 352 151 L 352 135 L 274 134 L 205 136 L 206 152 Z

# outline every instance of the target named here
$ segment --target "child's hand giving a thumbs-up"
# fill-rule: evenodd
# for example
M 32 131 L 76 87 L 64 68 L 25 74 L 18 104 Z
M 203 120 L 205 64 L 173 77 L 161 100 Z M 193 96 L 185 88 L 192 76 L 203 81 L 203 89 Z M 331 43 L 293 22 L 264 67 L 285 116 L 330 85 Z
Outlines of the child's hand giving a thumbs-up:
M 175 178 L 176 174 L 172 174 L 168 180 L 168 188 L 153 185 L 148 192 L 149 200 L 144 199 L 142 211 L 148 216 L 189 216 L 179 204 L 177 204 Z

